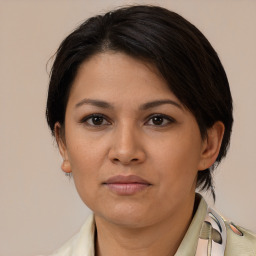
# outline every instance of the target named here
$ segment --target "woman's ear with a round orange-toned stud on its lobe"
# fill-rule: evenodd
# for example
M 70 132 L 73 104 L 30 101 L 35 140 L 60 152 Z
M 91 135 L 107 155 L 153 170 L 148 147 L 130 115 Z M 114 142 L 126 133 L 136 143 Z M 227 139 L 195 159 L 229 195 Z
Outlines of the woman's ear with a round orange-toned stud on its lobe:
M 65 173 L 71 173 L 72 169 L 71 169 L 71 165 L 70 165 L 69 158 L 68 158 L 65 137 L 64 137 L 64 133 L 61 129 L 63 129 L 63 128 L 61 128 L 61 124 L 59 122 L 55 123 L 54 134 L 55 134 L 55 138 L 56 138 L 56 141 L 58 144 L 60 154 L 63 158 L 63 162 L 61 164 L 61 169 Z

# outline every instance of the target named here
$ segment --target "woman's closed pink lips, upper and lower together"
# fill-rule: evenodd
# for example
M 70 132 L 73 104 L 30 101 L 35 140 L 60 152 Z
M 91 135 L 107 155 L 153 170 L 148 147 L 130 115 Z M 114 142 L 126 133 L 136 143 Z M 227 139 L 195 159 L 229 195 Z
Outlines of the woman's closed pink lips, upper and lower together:
M 103 184 L 118 195 L 133 195 L 152 185 L 148 181 L 136 175 L 113 176 Z

